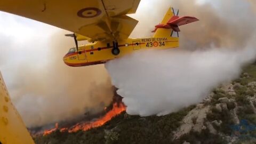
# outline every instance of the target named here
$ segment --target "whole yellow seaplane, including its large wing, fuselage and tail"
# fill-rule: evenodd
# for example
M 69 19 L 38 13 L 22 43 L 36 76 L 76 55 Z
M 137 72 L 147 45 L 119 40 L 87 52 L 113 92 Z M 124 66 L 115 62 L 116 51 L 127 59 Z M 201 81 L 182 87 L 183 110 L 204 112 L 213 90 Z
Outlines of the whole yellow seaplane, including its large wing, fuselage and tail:
M 140 0 L 12 0 L 0 1 L 0 11 L 34 19 L 74 32 L 76 47 L 63 61 L 72 67 L 105 63 L 141 49 L 170 49 L 179 46 L 179 26 L 198 21 L 178 17 L 170 8 L 155 26 L 151 38 L 129 38 L 138 21 L 126 14 L 137 11 Z M 78 46 L 78 41 L 89 44 Z

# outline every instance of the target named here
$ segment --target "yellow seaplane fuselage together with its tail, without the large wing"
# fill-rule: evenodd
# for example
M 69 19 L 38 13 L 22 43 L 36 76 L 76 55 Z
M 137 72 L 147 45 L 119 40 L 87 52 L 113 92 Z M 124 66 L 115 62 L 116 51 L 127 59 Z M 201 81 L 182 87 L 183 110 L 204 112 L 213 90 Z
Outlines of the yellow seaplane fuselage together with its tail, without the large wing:
M 75 38 L 76 47 L 69 50 L 63 61 L 72 67 L 82 67 L 105 63 L 142 49 L 170 49 L 179 47 L 179 26 L 198 21 L 194 17 L 178 17 L 179 10 L 172 7 L 166 12 L 161 24 L 155 26 L 151 38 L 125 38 L 97 41 L 85 46 L 77 46 L 77 41 L 91 39 L 79 34 L 66 35 Z M 89 32 L 94 29 L 88 29 Z M 123 33 L 122 33 L 123 34 Z

